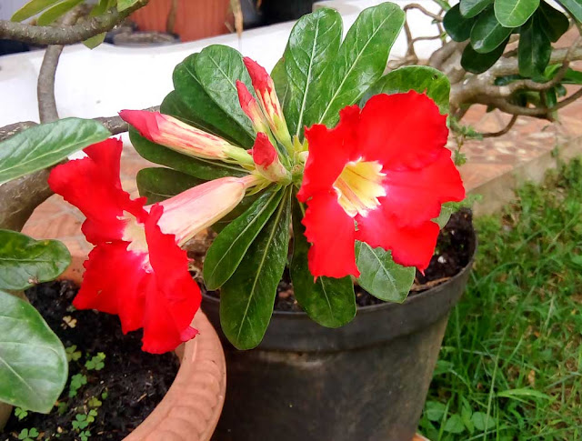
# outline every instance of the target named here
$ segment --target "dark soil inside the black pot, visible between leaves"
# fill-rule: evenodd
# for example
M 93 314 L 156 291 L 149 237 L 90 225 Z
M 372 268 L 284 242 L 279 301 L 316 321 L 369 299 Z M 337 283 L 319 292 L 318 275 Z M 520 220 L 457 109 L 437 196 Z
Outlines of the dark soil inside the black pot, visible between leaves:
M 473 236 L 472 214 L 468 209 L 459 210 L 453 214 L 438 236 L 435 256 L 426 268 L 423 276 L 416 270 L 415 283 L 410 290 L 410 296 L 426 291 L 434 286 L 446 282 L 452 276 L 456 276 L 467 264 L 473 255 L 475 248 Z M 204 284 L 201 284 L 204 289 Z M 370 306 L 385 303 L 375 296 L 371 296 L 360 286 L 356 288 L 357 306 Z M 207 292 L 210 296 L 219 296 L 216 291 Z M 302 311 L 293 294 L 291 278 L 286 270 L 283 280 L 277 288 L 275 299 L 276 311 Z

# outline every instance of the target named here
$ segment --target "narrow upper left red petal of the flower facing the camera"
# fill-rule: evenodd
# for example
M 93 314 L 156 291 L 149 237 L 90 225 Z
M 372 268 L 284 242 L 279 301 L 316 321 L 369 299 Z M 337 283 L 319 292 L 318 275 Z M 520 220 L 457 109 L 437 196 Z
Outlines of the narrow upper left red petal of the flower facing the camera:
M 312 125 L 306 129 L 309 156 L 303 183 L 297 198 L 306 200 L 317 192 L 327 192 L 342 173 L 344 166 L 354 159 L 359 107 L 350 105 L 339 113 L 339 123 L 333 129 Z

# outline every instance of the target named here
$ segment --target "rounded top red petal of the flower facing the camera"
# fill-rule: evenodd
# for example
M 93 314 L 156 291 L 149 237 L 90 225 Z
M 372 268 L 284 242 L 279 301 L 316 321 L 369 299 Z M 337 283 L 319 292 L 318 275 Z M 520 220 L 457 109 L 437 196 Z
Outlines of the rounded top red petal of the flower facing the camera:
M 358 150 L 385 170 L 420 168 L 447 144 L 447 116 L 424 94 L 374 95 L 362 109 Z

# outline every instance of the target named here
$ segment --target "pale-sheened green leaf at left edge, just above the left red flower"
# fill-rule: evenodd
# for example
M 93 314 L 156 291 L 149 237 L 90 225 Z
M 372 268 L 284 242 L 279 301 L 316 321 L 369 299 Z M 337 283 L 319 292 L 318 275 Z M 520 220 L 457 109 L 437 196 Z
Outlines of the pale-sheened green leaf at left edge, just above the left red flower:
M 65 118 L 30 127 L 0 143 L 0 184 L 55 165 L 109 135 L 91 119 Z

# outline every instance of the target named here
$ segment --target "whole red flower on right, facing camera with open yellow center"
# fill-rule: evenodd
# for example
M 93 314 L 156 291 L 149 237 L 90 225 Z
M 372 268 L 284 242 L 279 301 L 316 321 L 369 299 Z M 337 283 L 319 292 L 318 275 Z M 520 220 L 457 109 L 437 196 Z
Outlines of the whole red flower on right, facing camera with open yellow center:
M 314 276 L 359 276 L 359 240 L 424 270 L 439 228 L 431 219 L 465 189 L 450 157 L 447 118 L 426 95 L 376 95 L 348 106 L 333 129 L 306 129 L 309 156 L 297 197 L 307 203 L 309 269 Z

